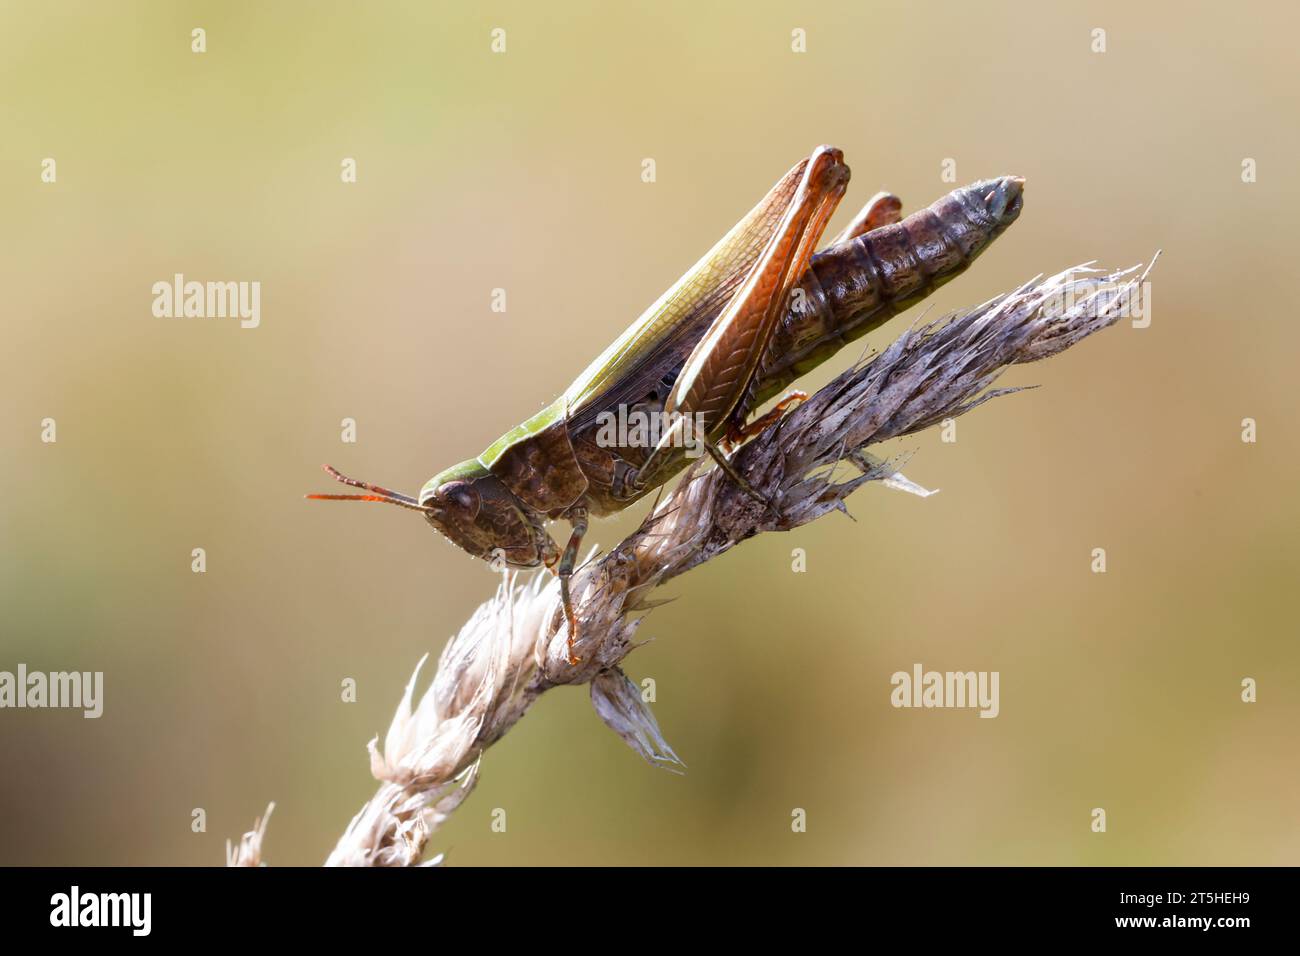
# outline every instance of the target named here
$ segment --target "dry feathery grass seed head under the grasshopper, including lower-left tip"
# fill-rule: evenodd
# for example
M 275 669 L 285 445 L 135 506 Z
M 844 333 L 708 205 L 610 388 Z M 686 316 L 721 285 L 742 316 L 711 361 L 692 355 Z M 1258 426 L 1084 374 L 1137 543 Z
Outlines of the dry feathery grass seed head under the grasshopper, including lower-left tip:
M 577 666 L 568 662 L 558 584 L 536 576 L 520 585 L 507 575 L 443 650 L 433 683 L 412 706 L 424 659 L 416 666 L 382 752 L 377 739 L 369 745 L 378 792 L 328 862 L 419 864 L 430 835 L 473 790 L 482 752 L 560 684 L 590 683 L 597 713 L 633 750 L 680 771 L 685 765 L 620 667 L 656 604 L 650 592 L 754 535 L 845 510 L 849 494 L 868 481 L 928 494 L 898 473 L 898 460 L 883 462 L 867 446 L 1018 392 L 992 385 L 1008 367 L 1056 355 L 1118 321 L 1141 294 L 1147 273 L 1135 272 L 1082 265 L 1035 278 L 945 321 L 914 326 L 845 371 L 732 459 L 776 514 L 716 468 L 697 464 L 634 533 L 575 575 Z M 845 462 L 857 471 L 836 480 Z M 265 819 L 244 835 L 233 865 L 259 861 L 264 830 Z

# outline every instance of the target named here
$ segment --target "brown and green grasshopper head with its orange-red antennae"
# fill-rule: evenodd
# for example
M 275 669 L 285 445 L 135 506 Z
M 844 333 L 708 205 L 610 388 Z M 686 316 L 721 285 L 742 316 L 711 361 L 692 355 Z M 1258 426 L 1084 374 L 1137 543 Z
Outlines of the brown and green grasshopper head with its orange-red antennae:
M 350 479 L 328 464 L 325 471 L 335 481 L 369 494 L 308 494 L 308 498 L 378 501 L 419 511 L 434 531 L 488 562 L 502 561 L 511 567 L 550 567 L 559 559 L 559 549 L 541 520 L 476 459 L 434 475 L 420 489 L 419 498 Z

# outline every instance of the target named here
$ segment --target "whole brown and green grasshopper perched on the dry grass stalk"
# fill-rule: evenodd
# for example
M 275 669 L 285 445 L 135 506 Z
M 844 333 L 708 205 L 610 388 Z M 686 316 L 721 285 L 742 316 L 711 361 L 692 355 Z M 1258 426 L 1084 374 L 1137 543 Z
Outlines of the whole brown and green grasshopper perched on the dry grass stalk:
M 1015 221 L 1024 185 L 1014 176 L 985 179 L 906 219 L 896 196 L 878 193 L 815 254 L 848 182 L 840 150 L 818 147 L 559 398 L 477 458 L 434 475 L 417 497 L 329 466 L 332 477 L 367 493 L 307 497 L 398 505 L 474 557 L 550 568 L 569 662 L 578 663 L 569 578 L 589 516 L 663 485 L 685 467 L 692 442 L 757 497 L 728 451 L 806 395 L 792 392 L 754 421 L 750 411 L 963 272 Z M 641 429 L 636 440 L 611 441 L 603 425 L 628 410 L 667 427 L 653 440 Z M 546 531 L 558 519 L 571 525 L 563 550 Z

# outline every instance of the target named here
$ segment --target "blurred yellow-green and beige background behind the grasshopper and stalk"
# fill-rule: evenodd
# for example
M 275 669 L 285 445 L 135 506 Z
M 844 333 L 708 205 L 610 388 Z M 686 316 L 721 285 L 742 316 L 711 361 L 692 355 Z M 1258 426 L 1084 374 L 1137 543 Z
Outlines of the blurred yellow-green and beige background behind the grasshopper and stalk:
M 0 711 L 0 864 L 220 864 L 269 800 L 265 858 L 322 861 L 374 790 L 365 741 L 495 579 L 395 509 L 306 503 L 332 490 L 318 464 L 411 492 L 477 453 L 818 143 L 854 170 L 832 232 L 878 189 L 907 209 L 946 193 L 946 157 L 959 183 L 1027 177 L 1019 222 L 935 310 L 1164 247 L 1152 326 L 1013 369 L 1002 384 L 1044 388 L 956 444 L 896 446 L 941 494 L 868 488 L 857 523 L 670 585 L 628 671 L 655 679 L 688 775 L 560 689 L 433 847 L 462 865 L 1300 861 L 1294 9 L 0 9 L 0 670 L 107 685 L 99 721 Z M 260 281 L 261 326 L 155 319 L 176 272 Z M 1000 671 L 1001 715 L 892 709 L 915 662 Z

